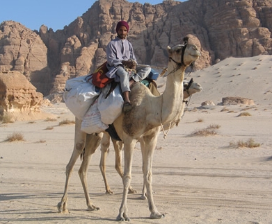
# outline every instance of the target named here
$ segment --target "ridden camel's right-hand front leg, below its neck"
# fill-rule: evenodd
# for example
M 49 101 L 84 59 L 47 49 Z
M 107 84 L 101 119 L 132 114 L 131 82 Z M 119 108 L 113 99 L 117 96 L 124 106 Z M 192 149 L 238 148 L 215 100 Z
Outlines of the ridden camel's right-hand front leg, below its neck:
M 142 148 L 142 156 L 143 156 L 143 179 L 144 186 L 143 190 L 146 187 L 147 199 L 148 199 L 148 207 L 150 209 L 150 218 L 159 219 L 164 218 L 164 214 L 158 212 L 157 207 L 154 203 L 153 199 L 153 191 L 152 191 L 152 160 L 154 154 L 154 148 L 157 144 L 157 134 L 149 135 L 143 137 L 144 148 Z

